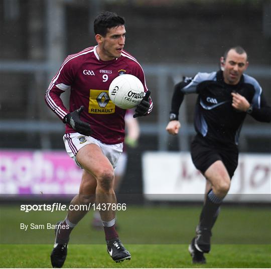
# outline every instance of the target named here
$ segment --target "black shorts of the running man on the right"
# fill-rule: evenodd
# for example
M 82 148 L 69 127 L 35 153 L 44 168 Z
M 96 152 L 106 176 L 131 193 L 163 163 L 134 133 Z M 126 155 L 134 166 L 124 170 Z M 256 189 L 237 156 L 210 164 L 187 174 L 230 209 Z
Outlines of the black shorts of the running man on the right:
M 203 174 L 211 164 L 220 160 L 225 165 L 230 178 L 238 165 L 238 148 L 235 145 L 222 146 L 196 135 L 191 144 L 192 161 Z

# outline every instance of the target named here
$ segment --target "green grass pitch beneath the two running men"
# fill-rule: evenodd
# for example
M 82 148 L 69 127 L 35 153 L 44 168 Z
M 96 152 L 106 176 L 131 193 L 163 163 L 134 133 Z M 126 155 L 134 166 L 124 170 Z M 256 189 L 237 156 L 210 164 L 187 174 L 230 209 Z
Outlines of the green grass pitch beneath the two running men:
M 55 223 L 65 212 L 29 212 L 1 207 L 0 267 L 51 267 L 52 230 L 20 229 L 20 222 Z M 64 267 L 271 267 L 269 208 L 224 206 L 213 229 L 207 264 L 194 265 L 187 250 L 201 206 L 138 207 L 118 212 L 119 235 L 131 260 L 115 263 L 106 251 L 103 231 L 91 229 L 91 215 L 71 234 Z

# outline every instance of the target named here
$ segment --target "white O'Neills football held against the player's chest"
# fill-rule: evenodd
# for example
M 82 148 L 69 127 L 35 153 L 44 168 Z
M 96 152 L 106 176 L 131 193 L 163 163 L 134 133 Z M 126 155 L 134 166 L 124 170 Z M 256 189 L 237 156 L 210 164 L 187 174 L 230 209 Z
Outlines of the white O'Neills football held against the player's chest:
M 109 86 L 109 98 L 119 108 L 137 106 L 144 97 L 144 86 L 135 76 L 124 74 L 113 79 Z

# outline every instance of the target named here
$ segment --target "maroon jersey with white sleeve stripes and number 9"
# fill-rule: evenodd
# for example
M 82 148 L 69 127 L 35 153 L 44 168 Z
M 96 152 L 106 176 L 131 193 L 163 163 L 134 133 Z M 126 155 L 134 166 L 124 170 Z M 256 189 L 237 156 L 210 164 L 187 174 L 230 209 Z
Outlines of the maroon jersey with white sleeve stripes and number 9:
M 105 144 L 124 141 L 124 109 L 116 107 L 108 96 L 112 80 L 122 74 L 138 77 L 148 91 L 141 65 L 130 54 L 122 51 L 121 57 L 111 61 L 101 61 L 96 47 L 87 48 L 69 55 L 53 78 L 45 100 L 57 116 L 63 120 L 69 112 L 84 106 L 80 119 L 90 124 L 92 137 Z M 70 108 L 65 108 L 60 95 L 70 90 Z M 150 98 L 150 109 L 153 104 Z M 66 133 L 75 131 L 66 124 Z

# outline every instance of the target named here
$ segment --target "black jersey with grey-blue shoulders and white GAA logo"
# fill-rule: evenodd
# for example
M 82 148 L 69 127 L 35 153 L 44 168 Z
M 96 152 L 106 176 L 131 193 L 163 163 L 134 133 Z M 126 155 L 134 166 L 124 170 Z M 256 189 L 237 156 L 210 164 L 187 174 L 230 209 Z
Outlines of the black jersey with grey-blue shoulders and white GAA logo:
M 258 121 L 271 120 L 271 108 L 267 106 L 258 82 L 242 75 L 237 85 L 224 82 L 223 72 L 198 73 L 175 86 L 171 113 L 178 114 L 184 94 L 196 93 L 194 125 L 197 133 L 208 140 L 222 144 L 238 144 L 239 132 L 247 113 L 232 107 L 231 93 L 244 96 L 252 105 L 251 116 Z

